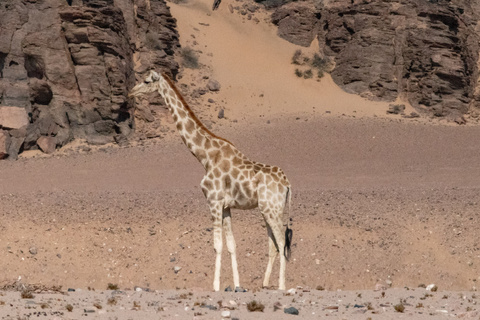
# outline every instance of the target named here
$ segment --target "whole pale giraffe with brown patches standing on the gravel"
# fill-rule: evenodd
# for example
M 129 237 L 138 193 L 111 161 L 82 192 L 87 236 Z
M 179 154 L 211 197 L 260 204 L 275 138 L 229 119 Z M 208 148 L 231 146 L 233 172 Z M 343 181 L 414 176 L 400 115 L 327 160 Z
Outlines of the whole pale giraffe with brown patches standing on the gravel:
M 195 116 L 168 75 L 150 71 L 145 81 L 137 84 L 129 96 L 135 97 L 155 91 L 165 100 L 183 142 L 205 168 L 205 176 L 200 186 L 213 221 L 216 253 L 214 290 L 220 290 L 224 230 L 227 249 L 232 259 L 235 291 L 244 291 L 240 287 L 230 209 L 246 210 L 256 207 L 260 209 L 266 222 L 269 238 L 269 258 L 263 286 L 268 287 L 273 263 L 277 253 L 282 250 L 278 288 L 285 290 L 286 261 L 290 257 L 293 235 L 289 220 L 287 219 L 286 225 L 283 224 L 285 206 L 288 203 L 290 207 L 291 202 L 291 186 L 286 175 L 279 167 L 249 160 L 231 142 L 210 132 Z

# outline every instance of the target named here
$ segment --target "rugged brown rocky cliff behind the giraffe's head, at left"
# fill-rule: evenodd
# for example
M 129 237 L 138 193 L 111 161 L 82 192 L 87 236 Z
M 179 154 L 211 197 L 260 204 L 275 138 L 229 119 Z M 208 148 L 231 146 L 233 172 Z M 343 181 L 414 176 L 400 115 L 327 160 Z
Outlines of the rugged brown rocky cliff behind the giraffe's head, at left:
M 178 72 L 164 0 L 0 3 L 0 158 L 74 138 L 121 142 L 134 129 L 135 76 Z

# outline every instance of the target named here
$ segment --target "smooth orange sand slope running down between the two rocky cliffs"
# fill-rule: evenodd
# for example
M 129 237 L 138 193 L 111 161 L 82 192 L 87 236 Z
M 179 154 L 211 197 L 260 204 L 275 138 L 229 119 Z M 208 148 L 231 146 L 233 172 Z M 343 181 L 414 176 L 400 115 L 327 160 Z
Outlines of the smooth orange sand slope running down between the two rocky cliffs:
M 276 27 L 267 14 L 258 9 L 259 23 L 231 14 L 223 1 L 220 9 L 210 11 L 211 1 L 195 0 L 170 3 L 177 19 L 182 46 L 200 50 L 200 62 L 212 67 L 212 76 L 222 90 L 216 95 L 233 119 L 259 115 L 320 113 L 333 115 L 385 115 L 388 103 L 372 102 L 343 92 L 327 74 L 321 81 L 298 78 L 291 64 L 294 52 L 315 52 L 291 44 L 276 36 Z M 198 43 L 197 45 L 194 45 Z M 247 116 L 248 115 L 248 116 Z

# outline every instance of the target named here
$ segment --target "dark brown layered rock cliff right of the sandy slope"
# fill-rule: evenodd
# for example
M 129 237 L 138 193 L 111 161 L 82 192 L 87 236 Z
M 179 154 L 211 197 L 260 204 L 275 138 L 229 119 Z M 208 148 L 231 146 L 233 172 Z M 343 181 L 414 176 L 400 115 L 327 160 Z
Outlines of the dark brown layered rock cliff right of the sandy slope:
M 272 22 L 293 43 L 318 38 L 335 61 L 334 81 L 348 92 L 400 96 L 425 115 L 478 116 L 478 0 L 292 2 L 278 6 Z

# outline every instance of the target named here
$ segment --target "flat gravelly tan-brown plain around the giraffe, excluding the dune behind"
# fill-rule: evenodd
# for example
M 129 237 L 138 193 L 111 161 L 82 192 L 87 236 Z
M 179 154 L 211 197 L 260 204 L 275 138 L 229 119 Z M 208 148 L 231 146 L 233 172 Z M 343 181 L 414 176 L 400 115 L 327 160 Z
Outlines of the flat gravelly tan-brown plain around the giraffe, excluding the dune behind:
M 311 114 L 250 123 L 223 119 L 213 130 L 252 159 L 287 173 L 294 230 L 287 287 L 310 292 L 299 290 L 294 297 L 272 290 L 255 293 L 267 264 L 267 235 L 258 210 L 233 212 L 240 279 L 249 293 L 210 292 L 214 251 L 198 186 L 203 169 L 180 139 L 159 139 L 143 146 L 0 162 L 0 284 L 82 289 L 69 296 L 39 295 L 30 303 L 37 309 L 25 309 L 28 299 L 20 299 L 19 292 L 4 292 L 2 317 L 16 317 L 17 307 L 21 315 L 65 312 L 63 305 L 76 301 L 70 302 L 72 314 L 59 317 L 79 318 L 99 300 L 107 315 L 116 310 L 112 317 L 127 319 L 139 295 L 144 300 L 132 319 L 162 317 L 156 313 L 157 300 L 169 310 L 164 313 L 168 318 L 195 302 L 217 305 L 232 299 L 240 305 L 233 317 L 242 312 L 241 319 L 253 319 L 256 314 L 241 303 L 256 299 L 255 294 L 268 312 L 280 299 L 308 316 L 333 312 L 341 318 L 345 312 L 354 319 L 354 311 L 362 308 L 352 306 L 371 302 L 378 312 L 406 317 L 391 306 L 400 299 L 407 299 L 405 308 L 415 319 L 438 316 L 442 309 L 449 315 L 476 312 L 470 291 L 479 280 L 480 127 Z M 176 266 L 181 267 L 177 273 Z M 275 266 L 272 286 L 277 272 Z M 107 307 L 110 292 L 98 291 L 108 283 L 121 290 L 161 291 L 129 291 L 118 306 Z M 420 300 L 427 291 L 418 285 L 431 283 L 439 291 Z M 389 284 L 398 289 L 387 289 L 392 298 L 380 299 L 383 289 L 373 289 Z M 230 257 L 224 250 L 222 287 L 229 285 Z M 331 292 L 316 291 L 317 286 Z M 88 287 L 97 291 L 83 297 Z M 186 291 L 165 291 L 176 288 Z M 368 291 L 360 299 L 356 290 Z M 180 303 L 165 300 L 190 291 L 194 296 Z M 453 300 L 442 299 L 445 295 Z M 38 303 L 46 299 L 53 299 L 52 307 L 40 310 Z M 424 305 L 422 314 L 418 303 Z M 324 310 L 333 304 L 338 311 Z M 181 317 L 192 318 L 198 311 L 204 315 L 200 318 L 220 318 L 220 310 L 190 309 Z M 366 313 L 358 319 L 366 319 Z M 386 314 L 377 318 L 387 319 Z

